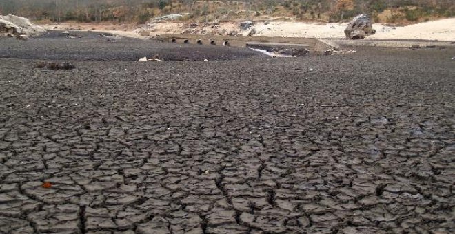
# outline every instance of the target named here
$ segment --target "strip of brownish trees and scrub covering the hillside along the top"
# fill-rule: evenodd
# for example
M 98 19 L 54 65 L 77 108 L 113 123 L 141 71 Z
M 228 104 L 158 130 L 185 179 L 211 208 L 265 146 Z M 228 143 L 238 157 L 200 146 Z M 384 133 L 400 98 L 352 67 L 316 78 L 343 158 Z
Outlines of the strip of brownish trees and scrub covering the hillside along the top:
M 455 16 L 454 0 L 1 0 L 0 14 L 33 21 L 145 23 L 165 14 L 186 20 L 230 21 L 259 16 L 344 21 L 367 13 L 376 22 L 428 21 Z M 185 20 L 183 19 L 183 20 Z

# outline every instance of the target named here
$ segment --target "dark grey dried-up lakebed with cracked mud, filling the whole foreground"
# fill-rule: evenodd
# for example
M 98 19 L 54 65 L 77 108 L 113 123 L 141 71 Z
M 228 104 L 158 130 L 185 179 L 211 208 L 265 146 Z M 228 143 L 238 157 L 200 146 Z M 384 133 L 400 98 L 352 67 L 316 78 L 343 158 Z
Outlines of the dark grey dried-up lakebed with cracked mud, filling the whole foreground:
M 0 39 L 1 233 L 454 233 L 454 49 L 95 37 Z

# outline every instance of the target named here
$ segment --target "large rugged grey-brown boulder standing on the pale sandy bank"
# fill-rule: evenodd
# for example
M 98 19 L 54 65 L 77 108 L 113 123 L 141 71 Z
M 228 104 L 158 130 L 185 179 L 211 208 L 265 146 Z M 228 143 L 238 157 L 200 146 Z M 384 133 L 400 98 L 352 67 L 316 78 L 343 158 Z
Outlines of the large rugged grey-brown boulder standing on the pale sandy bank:
M 364 39 L 365 36 L 375 33 L 376 30 L 373 29 L 372 21 L 367 14 L 359 14 L 354 17 L 345 29 L 346 38 L 352 40 Z

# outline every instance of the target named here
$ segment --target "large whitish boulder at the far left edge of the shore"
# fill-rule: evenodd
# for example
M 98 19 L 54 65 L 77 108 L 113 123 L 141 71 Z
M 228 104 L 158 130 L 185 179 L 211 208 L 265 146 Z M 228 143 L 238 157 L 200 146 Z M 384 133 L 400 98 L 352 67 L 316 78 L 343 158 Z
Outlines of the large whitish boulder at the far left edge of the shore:
M 43 32 L 45 32 L 43 27 L 34 25 L 26 18 L 11 14 L 0 15 L 0 36 L 37 36 Z

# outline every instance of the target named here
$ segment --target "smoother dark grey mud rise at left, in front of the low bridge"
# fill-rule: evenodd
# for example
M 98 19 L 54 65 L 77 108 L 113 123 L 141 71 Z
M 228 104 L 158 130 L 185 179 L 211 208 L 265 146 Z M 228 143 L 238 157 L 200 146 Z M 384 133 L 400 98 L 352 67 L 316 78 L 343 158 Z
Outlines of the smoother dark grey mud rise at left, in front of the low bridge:
M 0 43 L 0 58 L 138 61 L 144 56 L 151 58 L 158 55 L 170 61 L 203 61 L 261 56 L 240 48 L 164 44 L 101 32 L 72 31 L 63 34 L 61 31 L 50 31 L 22 43 L 9 38 L 0 38 Z

